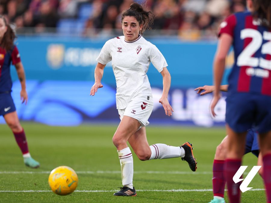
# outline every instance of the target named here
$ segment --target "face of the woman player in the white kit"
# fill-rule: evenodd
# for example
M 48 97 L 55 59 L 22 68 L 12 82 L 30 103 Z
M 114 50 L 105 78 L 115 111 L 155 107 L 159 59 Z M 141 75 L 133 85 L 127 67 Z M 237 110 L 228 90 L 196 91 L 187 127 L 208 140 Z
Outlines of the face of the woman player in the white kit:
M 123 35 L 126 41 L 134 41 L 138 38 L 139 31 L 142 29 L 142 24 L 133 16 L 125 16 L 122 20 Z

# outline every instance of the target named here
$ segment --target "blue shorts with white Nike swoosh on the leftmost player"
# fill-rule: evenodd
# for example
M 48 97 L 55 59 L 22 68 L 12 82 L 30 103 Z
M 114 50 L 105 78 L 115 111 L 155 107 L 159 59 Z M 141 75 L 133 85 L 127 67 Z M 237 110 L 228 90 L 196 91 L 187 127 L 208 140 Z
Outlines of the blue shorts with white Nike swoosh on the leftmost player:
M 0 115 L 5 115 L 16 111 L 13 99 L 10 93 L 0 93 Z

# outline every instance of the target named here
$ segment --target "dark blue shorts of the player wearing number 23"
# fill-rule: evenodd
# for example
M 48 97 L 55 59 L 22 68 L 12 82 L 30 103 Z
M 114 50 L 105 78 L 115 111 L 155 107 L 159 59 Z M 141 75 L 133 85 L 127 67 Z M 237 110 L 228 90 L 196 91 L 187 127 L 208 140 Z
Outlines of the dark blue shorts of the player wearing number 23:
M 229 94 L 226 99 L 226 123 L 236 133 L 254 126 L 258 133 L 271 130 L 271 97 L 250 93 Z

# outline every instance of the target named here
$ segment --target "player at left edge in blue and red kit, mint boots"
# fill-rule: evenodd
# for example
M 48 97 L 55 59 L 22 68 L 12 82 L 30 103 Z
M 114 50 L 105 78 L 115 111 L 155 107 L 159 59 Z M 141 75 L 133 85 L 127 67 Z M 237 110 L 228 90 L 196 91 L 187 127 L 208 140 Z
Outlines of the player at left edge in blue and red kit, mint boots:
M 11 62 L 15 65 L 18 78 L 21 83 L 21 100 L 27 103 L 25 75 L 23 64 L 17 47 L 13 44 L 15 33 L 7 24 L 5 17 L 0 15 L 0 115 L 11 128 L 15 140 L 23 153 L 23 160 L 26 166 L 38 168 L 39 162 L 35 161 L 28 151 L 25 133 L 20 125 L 19 118 L 11 97 L 12 81 L 10 76 Z

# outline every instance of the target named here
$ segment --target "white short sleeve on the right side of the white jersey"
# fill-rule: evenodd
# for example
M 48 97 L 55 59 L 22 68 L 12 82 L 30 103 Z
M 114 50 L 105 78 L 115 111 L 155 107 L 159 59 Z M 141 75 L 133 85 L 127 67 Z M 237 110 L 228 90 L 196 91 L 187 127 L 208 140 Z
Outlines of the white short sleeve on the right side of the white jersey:
M 163 54 L 159 51 L 159 49 L 151 44 L 150 48 L 150 61 L 153 64 L 153 66 L 158 70 L 158 72 L 161 72 L 164 67 L 167 67 L 167 61 Z

